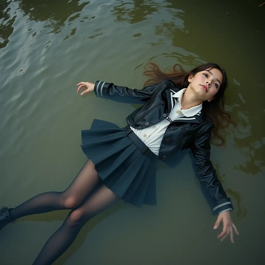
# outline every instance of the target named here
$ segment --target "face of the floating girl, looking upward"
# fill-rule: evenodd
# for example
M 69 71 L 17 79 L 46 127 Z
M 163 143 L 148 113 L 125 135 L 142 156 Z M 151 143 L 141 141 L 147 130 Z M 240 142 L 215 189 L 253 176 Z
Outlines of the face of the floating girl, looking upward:
M 209 68 L 193 77 L 189 76 L 188 81 L 199 99 L 211 101 L 223 82 L 223 74 L 217 68 Z

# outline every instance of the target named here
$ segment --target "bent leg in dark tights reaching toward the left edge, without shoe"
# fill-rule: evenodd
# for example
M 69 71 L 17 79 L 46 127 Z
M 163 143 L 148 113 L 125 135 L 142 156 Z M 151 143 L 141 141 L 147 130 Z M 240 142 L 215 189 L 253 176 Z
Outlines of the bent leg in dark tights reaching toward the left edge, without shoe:
M 88 160 L 64 192 L 41 193 L 10 210 L 12 220 L 54 210 L 74 209 L 82 203 L 99 181 L 95 165 Z

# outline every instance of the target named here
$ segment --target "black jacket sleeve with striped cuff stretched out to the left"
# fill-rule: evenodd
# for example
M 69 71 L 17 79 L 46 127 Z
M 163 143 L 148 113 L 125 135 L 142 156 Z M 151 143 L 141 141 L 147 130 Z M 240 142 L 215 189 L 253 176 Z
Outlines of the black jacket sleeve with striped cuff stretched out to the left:
M 129 104 L 147 102 L 157 87 L 157 84 L 144 87 L 142 90 L 129 89 L 125 86 L 116 86 L 113 83 L 96 81 L 94 92 L 96 96 Z

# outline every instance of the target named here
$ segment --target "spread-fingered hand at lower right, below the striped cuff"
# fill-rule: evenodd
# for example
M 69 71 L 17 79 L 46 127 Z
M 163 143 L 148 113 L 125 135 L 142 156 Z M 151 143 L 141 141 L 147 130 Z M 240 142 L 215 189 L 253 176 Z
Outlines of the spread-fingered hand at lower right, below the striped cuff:
M 231 220 L 230 211 L 222 212 L 218 215 L 217 221 L 214 224 L 214 229 L 217 229 L 220 222 L 223 222 L 223 231 L 220 233 L 218 238 L 221 238 L 221 241 L 223 241 L 229 234 L 231 242 L 234 243 L 233 240 L 233 229 L 235 230 L 236 234 L 239 235 L 237 232 L 236 226 L 233 224 Z

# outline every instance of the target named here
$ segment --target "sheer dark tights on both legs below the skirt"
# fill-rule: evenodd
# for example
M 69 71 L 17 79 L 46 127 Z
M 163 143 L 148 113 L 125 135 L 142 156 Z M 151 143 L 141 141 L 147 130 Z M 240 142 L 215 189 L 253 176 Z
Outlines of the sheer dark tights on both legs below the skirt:
M 50 265 L 73 243 L 83 225 L 118 199 L 105 185 L 91 197 L 99 182 L 94 164 L 88 160 L 72 184 L 64 192 L 41 193 L 10 211 L 12 219 L 54 210 L 72 210 L 61 227 L 48 239 L 33 265 Z

